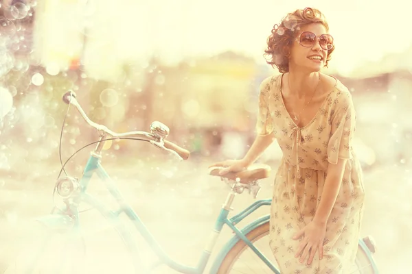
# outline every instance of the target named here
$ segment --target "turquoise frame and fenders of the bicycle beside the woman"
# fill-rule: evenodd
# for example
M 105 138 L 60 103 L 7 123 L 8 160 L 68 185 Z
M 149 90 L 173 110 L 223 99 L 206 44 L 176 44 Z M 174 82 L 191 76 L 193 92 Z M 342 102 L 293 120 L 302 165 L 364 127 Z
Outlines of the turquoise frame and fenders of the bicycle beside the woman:
M 87 187 L 89 186 L 89 182 L 93 173 L 97 173 L 98 177 L 100 177 L 100 179 L 102 179 L 102 181 L 106 185 L 106 188 L 109 190 L 109 192 L 111 192 L 111 195 L 113 195 L 113 197 L 117 200 L 120 207 L 119 210 L 112 211 L 106 208 L 104 203 L 98 201 L 98 199 L 95 199 L 93 196 L 87 193 Z M 249 214 L 257 210 L 261 206 L 270 206 L 271 199 L 255 201 L 255 203 L 251 204 L 251 206 L 242 210 L 242 212 L 236 214 L 230 219 L 228 219 L 230 206 L 229 208 L 223 207 L 220 210 L 220 214 L 218 215 L 216 225 L 214 226 L 214 230 L 210 237 L 210 242 L 207 243 L 207 247 L 201 254 L 201 258 L 199 259 L 197 265 L 195 267 L 191 267 L 175 262 L 174 260 L 172 260 L 172 258 L 170 258 L 170 256 L 168 256 L 167 253 L 165 253 L 165 251 L 163 251 L 159 243 L 152 236 L 152 234 L 150 234 L 150 232 L 148 231 L 144 223 L 141 221 L 141 219 L 139 219 L 139 216 L 135 213 L 133 208 L 131 208 L 128 205 L 128 203 L 126 203 L 126 201 L 122 197 L 122 194 L 119 192 L 119 189 L 117 188 L 116 184 L 111 180 L 106 171 L 104 171 L 104 168 L 100 163 L 100 158 L 96 155 L 90 156 L 89 161 L 87 162 L 87 165 L 84 169 L 84 175 L 80 179 L 80 186 L 81 192 L 77 198 L 78 201 L 88 203 L 90 206 L 98 210 L 106 219 L 108 219 L 108 221 L 111 221 L 111 223 L 113 223 L 113 227 L 115 228 L 119 236 L 121 236 L 122 240 L 124 241 L 124 244 L 126 245 L 126 248 L 130 252 L 130 255 L 133 256 L 132 261 L 135 262 L 135 269 L 139 273 L 142 273 L 141 269 L 144 266 L 140 264 L 138 248 L 137 245 L 135 245 L 135 241 L 132 238 L 132 234 L 130 234 L 128 229 L 126 229 L 126 226 L 118 219 L 118 216 L 122 213 L 128 216 L 128 219 L 130 219 L 130 221 L 133 222 L 137 231 L 146 239 L 150 247 L 153 249 L 153 251 L 155 251 L 155 253 L 159 257 L 159 264 L 152 266 L 152 268 L 155 268 L 161 264 L 166 264 L 171 269 L 174 269 L 175 271 L 178 271 L 180 273 L 203 273 L 205 271 L 207 262 L 209 261 L 211 251 L 214 248 L 214 245 L 216 244 L 220 232 L 222 231 L 222 227 L 224 225 L 227 225 L 233 230 L 236 236 L 233 236 L 233 238 L 229 240 L 229 242 L 227 242 L 227 245 L 225 245 L 225 247 L 220 251 L 214 264 L 211 266 L 210 273 L 217 273 L 218 268 L 222 263 L 222 260 L 225 258 L 226 254 L 231 250 L 231 248 L 234 245 L 236 245 L 236 242 L 238 242 L 239 240 L 243 240 L 256 253 L 256 255 L 269 267 L 269 269 L 273 271 L 273 273 L 279 274 L 279 271 L 275 268 L 275 266 L 273 266 L 273 264 L 258 249 L 256 249 L 252 242 L 250 242 L 246 237 L 246 234 L 251 232 L 251 230 L 255 229 L 256 227 L 264 223 L 267 223 L 269 221 L 269 216 L 262 216 L 260 219 L 253 221 L 252 223 L 244 227 L 242 230 L 238 229 L 235 226 L 237 223 L 242 221 L 245 217 L 249 216 Z M 229 194 L 229 197 L 231 197 L 230 195 L 234 195 L 234 193 Z M 230 200 L 229 197 L 228 199 Z M 233 197 L 231 199 L 233 200 Z M 43 218 L 39 219 L 39 221 L 41 221 L 42 223 L 51 228 L 66 227 L 67 229 L 80 229 L 80 222 L 78 221 L 79 213 L 77 208 L 71 206 L 71 208 L 69 208 L 69 211 L 72 214 L 71 216 L 65 214 L 52 214 L 49 216 L 44 216 Z M 361 247 L 364 249 L 365 253 L 367 254 L 370 262 L 374 262 L 363 240 L 360 240 L 359 243 Z M 373 268 L 376 270 L 376 273 L 378 273 L 376 265 L 373 265 Z

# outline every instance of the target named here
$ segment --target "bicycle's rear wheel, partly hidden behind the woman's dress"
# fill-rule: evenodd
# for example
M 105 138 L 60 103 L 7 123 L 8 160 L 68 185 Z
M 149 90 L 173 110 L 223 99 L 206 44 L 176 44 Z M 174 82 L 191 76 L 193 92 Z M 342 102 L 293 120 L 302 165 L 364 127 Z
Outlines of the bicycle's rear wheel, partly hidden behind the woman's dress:
M 269 247 L 269 221 L 249 232 L 247 238 L 279 269 Z M 273 271 L 260 260 L 243 240 L 238 240 L 236 245 L 227 253 L 218 269 L 218 274 L 228 273 L 273 273 Z M 280 271 L 277 270 L 277 273 L 280 273 Z M 361 246 L 358 246 L 356 264 L 350 269 L 350 273 L 374 274 L 372 264 Z

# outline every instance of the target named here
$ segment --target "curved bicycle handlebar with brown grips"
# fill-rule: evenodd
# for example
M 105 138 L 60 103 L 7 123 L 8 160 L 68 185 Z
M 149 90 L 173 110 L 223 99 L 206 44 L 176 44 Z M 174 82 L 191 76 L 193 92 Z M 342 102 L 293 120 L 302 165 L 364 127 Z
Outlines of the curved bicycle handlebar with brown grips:
M 98 131 L 104 132 L 105 134 L 112 136 L 113 138 L 138 137 L 144 140 L 148 140 L 152 145 L 155 145 L 160 149 L 176 153 L 177 155 L 179 155 L 179 158 L 182 158 L 183 160 L 187 160 L 187 158 L 189 158 L 190 156 L 190 151 L 187 151 L 187 149 L 179 147 L 179 145 L 176 145 L 173 142 L 165 140 L 165 136 L 161 136 L 160 134 L 153 134 L 140 131 L 117 133 L 113 132 L 111 129 L 108 129 L 105 125 L 100 125 L 98 123 L 91 121 L 91 119 L 89 119 L 87 114 L 82 109 L 80 103 L 78 103 L 76 99 L 76 93 L 73 91 L 66 92 L 65 95 L 63 95 L 62 99 L 65 103 L 74 105 L 80 113 L 80 115 L 83 117 L 84 121 L 86 121 L 86 123 L 88 123 L 91 127 L 94 127 Z

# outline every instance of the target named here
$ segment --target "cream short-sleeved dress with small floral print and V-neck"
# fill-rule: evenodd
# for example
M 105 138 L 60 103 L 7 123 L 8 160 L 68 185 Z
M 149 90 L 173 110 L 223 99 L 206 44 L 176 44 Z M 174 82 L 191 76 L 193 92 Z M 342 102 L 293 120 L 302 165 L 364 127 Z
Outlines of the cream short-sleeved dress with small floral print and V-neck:
M 297 127 L 281 93 L 282 75 L 260 86 L 257 130 L 273 133 L 283 151 L 271 206 L 270 246 L 281 273 L 347 273 L 353 268 L 363 214 L 361 165 L 352 150 L 356 114 L 352 96 L 341 82 L 305 127 Z M 299 240 L 292 237 L 312 219 L 321 200 L 328 165 L 348 159 L 339 195 L 328 219 L 324 257 L 312 264 L 295 258 Z

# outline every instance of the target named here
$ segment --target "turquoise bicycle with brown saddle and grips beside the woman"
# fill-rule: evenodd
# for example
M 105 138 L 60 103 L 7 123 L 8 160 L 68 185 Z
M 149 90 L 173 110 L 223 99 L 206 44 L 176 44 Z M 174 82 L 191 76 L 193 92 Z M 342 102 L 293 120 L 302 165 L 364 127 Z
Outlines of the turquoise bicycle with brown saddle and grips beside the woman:
M 96 147 L 95 149 L 93 149 L 93 151 L 91 151 L 91 155 L 89 156 L 89 160 L 84 167 L 84 172 L 80 179 L 70 177 L 69 175 L 61 175 L 62 172 L 65 171 L 65 165 L 73 157 L 74 154 L 71 155 L 71 157 L 65 162 L 65 164 L 62 164 L 62 169 L 60 170 L 58 179 L 54 187 L 54 194 L 61 199 L 61 201 L 65 204 L 65 207 L 58 210 L 54 208 L 51 214 L 38 218 L 38 221 L 45 227 L 47 227 L 48 230 L 44 238 L 38 238 L 42 245 L 36 246 L 36 249 L 34 249 L 35 251 L 30 253 L 33 258 L 30 258 L 30 260 L 28 261 L 26 260 L 26 262 L 28 262 L 29 264 L 27 266 L 29 270 L 32 270 L 32 268 L 37 266 L 37 260 L 43 252 L 43 247 L 49 245 L 52 235 L 57 234 L 65 236 L 65 239 L 68 239 L 68 245 L 72 244 L 74 239 L 78 239 L 81 226 L 81 223 L 79 221 L 80 211 L 78 210 L 78 206 L 80 205 L 80 203 L 87 203 L 89 206 L 91 206 L 91 208 L 95 208 L 96 210 L 98 210 L 98 212 L 100 212 L 102 216 L 111 221 L 113 228 L 117 232 L 118 236 L 122 238 L 122 242 L 124 243 L 124 246 L 126 247 L 128 254 L 130 255 L 130 259 L 134 268 L 132 270 L 133 273 L 150 273 L 150 271 L 155 270 L 160 264 L 165 264 L 170 267 L 170 269 L 174 269 L 174 271 L 177 271 L 179 273 L 203 273 L 206 269 L 207 263 L 209 262 L 211 252 L 216 245 L 218 236 L 220 235 L 220 232 L 222 232 L 222 227 L 227 225 L 227 227 L 229 227 L 233 231 L 235 236 L 233 236 L 233 238 L 231 238 L 231 240 L 227 242 L 225 247 L 220 250 L 218 256 L 216 257 L 216 260 L 213 262 L 213 264 L 211 264 L 211 267 L 209 269 L 210 273 L 235 273 L 236 271 L 238 271 L 235 267 L 236 264 L 247 263 L 246 259 L 240 260 L 239 258 L 241 256 L 244 256 L 246 254 L 246 251 L 250 250 L 254 256 L 252 257 L 252 260 L 260 259 L 263 267 L 266 267 L 267 272 L 279 274 L 275 262 L 271 262 L 271 260 L 269 260 L 262 251 L 262 249 L 265 248 L 269 249 L 268 239 L 264 239 L 265 236 L 268 236 L 269 232 L 269 215 L 255 219 L 255 221 L 252 221 L 242 229 L 239 229 L 236 226 L 238 223 L 240 223 L 240 221 L 244 220 L 258 208 L 262 206 L 270 206 L 271 199 L 262 199 L 255 201 L 249 207 L 245 208 L 238 214 L 232 216 L 231 218 L 228 217 L 229 212 L 232 210 L 231 206 L 236 195 L 244 191 L 249 191 L 249 194 L 252 195 L 253 199 L 256 199 L 261 188 L 260 180 L 267 178 L 270 174 L 271 169 L 269 166 L 266 166 L 264 164 L 255 164 L 245 171 L 240 171 L 238 173 L 229 173 L 223 176 L 218 175 L 218 168 L 212 168 L 209 170 L 209 175 L 220 176 L 220 179 L 222 179 L 222 181 L 224 181 L 227 186 L 229 186 L 230 190 L 225 203 L 223 203 L 222 205 L 220 214 L 218 214 L 216 225 L 213 232 L 211 233 L 209 242 L 207 242 L 207 245 L 203 250 L 203 253 L 201 254 L 201 258 L 198 260 L 197 265 L 185 266 L 183 264 L 180 264 L 179 262 L 172 260 L 172 258 L 170 258 L 170 256 L 168 256 L 168 254 L 163 251 L 161 246 L 157 243 L 157 240 L 152 236 L 152 234 L 150 234 L 141 219 L 139 219 L 137 213 L 124 200 L 117 186 L 104 170 L 100 160 L 102 159 L 102 148 L 104 146 L 104 143 L 108 140 L 113 139 L 144 140 L 150 142 L 150 144 L 155 145 L 155 147 L 158 147 L 159 149 L 163 149 L 176 155 L 176 157 L 181 160 L 186 160 L 187 158 L 189 158 L 190 152 L 168 140 L 165 140 L 165 138 L 168 137 L 170 130 L 166 125 L 163 125 L 162 123 L 152 123 L 152 125 L 150 126 L 150 133 L 126 132 L 118 134 L 111 131 L 104 125 L 99 125 L 91 121 L 84 110 L 82 110 L 74 92 L 67 92 L 63 96 L 63 101 L 69 104 L 69 108 L 70 105 L 76 107 L 84 121 L 86 121 L 91 127 L 95 128 L 100 133 L 99 139 L 98 141 L 89 144 L 96 144 Z M 67 112 L 69 112 L 69 109 L 67 110 Z M 82 149 L 89 147 L 89 145 L 84 146 Z M 113 198 L 115 198 L 115 201 L 117 201 L 117 205 L 119 206 L 118 210 L 111 210 L 104 203 L 102 203 L 98 199 L 95 199 L 95 197 L 87 192 L 93 173 L 96 173 L 98 177 L 105 183 L 106 188 L 111 193 Z M 148 244 L 157 254 L 160 260 L 158 264 L 152 266 L 144 266 L 144 264 L 142 264 L 141 260 L 139 260 L 139 252 L 133 240 L 132 234 L 126 228 L 124 222 L 119 219 L 120 214 L 126 214 L 128 219 L 132 221 L 135 229 L 137 229 L 137 232 L 139 232 L 139 234 L 143 236 L 143 238 L 148 242 Z M 52 234 L 52 232 L 54 232 L 54 234 Z M 260 249 L 258 249 L 257 247 L 258 242 L 262 242 L 262 247 Z M 80 245 L 85 249 L 84 239 L 80 239 Z M 66 245 L 62 249 L 63 251 L 67 251 Z M 371 237 L 367 236 L 363 239 L 360 239 L 358 242 L 358 254 L 356 256 L 356 269 L 354 269 L 354 272 L 352 273 L 378 273 L 378 269 L 372 257 L 372 254 L 375 253 L 375 251 L 376 247 Z M 270 249 L 268 253 L 271 254 Z M 80 260 L 82 260 L 82 256 L 84 256 L 83 253 L 78 253 L 77 251 L 76 255 L 78 255 L 79 258 L 76 259 L 77 261 L 74 264 L 72 263 L 70 265 L 73 268 L 80 264 Z M 62 261 L 65 260 L 65 256 L 61 256 L 61 258 L 63 258 Z M 255 263 L 255 261 L 253 263 Z M 253 267 L 254 266 L 255 265 L 253 264 Z M 17 267 L 19 266 L 16 266 L 16 268 Z M 55 267 L 55 271 L 53 271 L 52 273 L 57 273 L 57 270 L 67 270 L 67 266 L 64 266 L 64 264 L 60 262 L 57 263 L 57 266 Z M 240 272 L 245 271 L 245 268 L 242 265 L 240 265 L 239 267 Z M 246 266 L 246 273 L 252 273 L 251 267 L 252 266 Z M 265 273 L 267 273 L 266 271 Z M 262 270 L 262 268 L 260 268 L 258 272 L 263 273 L 264 269 Z M 30 272 L 25 271 L 24 273 Z M 80 272 L 76 271 L 75 273 Z

